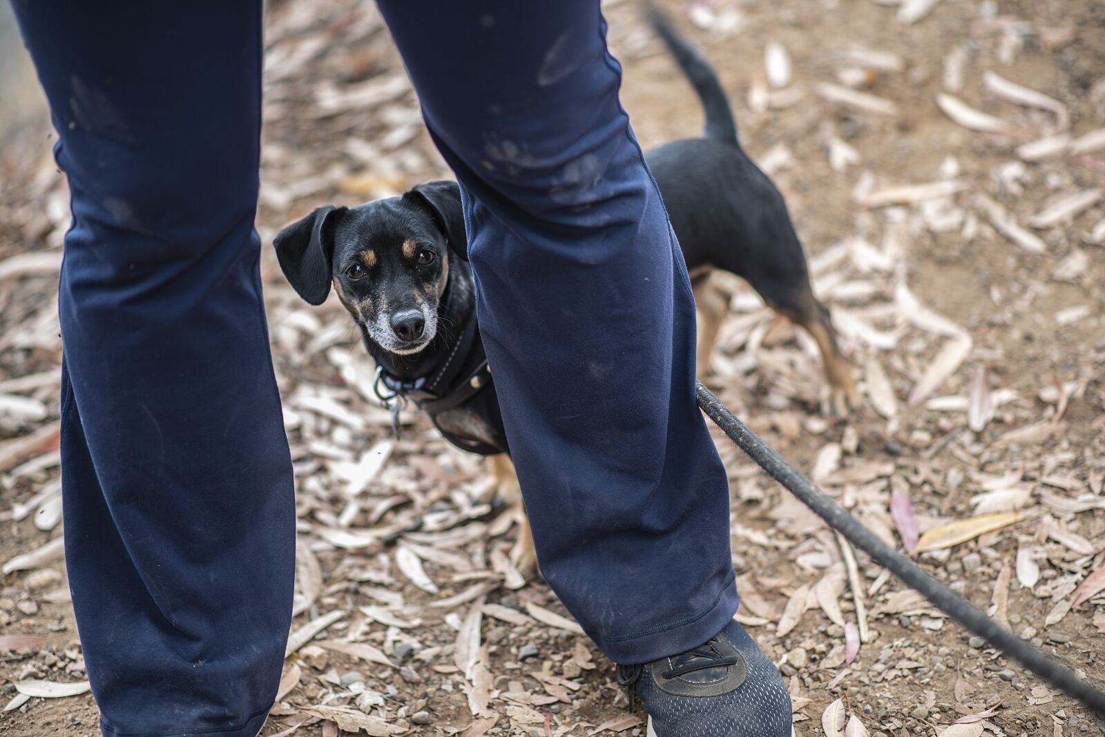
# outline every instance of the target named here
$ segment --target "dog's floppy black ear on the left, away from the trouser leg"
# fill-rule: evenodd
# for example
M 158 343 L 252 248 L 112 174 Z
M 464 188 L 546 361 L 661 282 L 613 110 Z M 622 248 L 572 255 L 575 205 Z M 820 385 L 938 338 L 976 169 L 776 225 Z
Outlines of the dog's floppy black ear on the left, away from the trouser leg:
M 334 224 L 345 207 L 315 209 L 273 238 L 276 260 L 299 297 L 322 305 L 330 293 L 330 261 L 334 258 Z

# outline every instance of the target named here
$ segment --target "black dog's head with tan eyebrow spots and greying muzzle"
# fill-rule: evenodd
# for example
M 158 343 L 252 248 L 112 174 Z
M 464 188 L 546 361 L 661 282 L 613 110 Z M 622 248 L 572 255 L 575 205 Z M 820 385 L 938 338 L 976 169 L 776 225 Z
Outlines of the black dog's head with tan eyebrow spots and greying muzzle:
M 419 184 L 357 207 L 318 207 L 273 241 L 284 276 L 312 305 L 330 285 L 385 351 L 418 353 L 438 332 L 449 249 L 467 258 L 456 182 Z

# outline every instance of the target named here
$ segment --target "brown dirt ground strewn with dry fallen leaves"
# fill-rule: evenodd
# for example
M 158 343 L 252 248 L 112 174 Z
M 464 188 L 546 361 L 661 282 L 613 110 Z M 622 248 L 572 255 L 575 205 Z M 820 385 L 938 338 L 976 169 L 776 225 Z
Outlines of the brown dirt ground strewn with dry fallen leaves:
M 911 18 L 932 4 L 670 6 L 787 197 L 863 402 L 822 415 L 812 342 L 735 280 L 722 279 L 732 310 L 709 384 L 880 535 L 901 549 L 912 527 L 927 533 L 927 570 L 1102 684 L 1105 4 L 943 0 Z M 699 106 L 636 7 L 607 7 L 642 143 L 697 135 Z M 303 637 L 262 734 L 329 737 L 369 715 L 369 734 L 390 734 L 386 722 L 394 734 L 643 735 L 610 663 L 550 616 L 566 615 L 556 597 L 519 586 L 504 559 L 509 515 L 473 501 L 481 461 L 414 414 L 394 441 L 341 308 L 307 307 L 276 268 L 273 233 L 311 207 L 448 171 L 370 2 L 285 0 L 266 23 L 259 229 L 296 462 Z M 64 563 L 43 548 L 61 536 L 51 428 L 67 194 L 52 139 L 39 120 L 0 141 L 2 737 L 98 734 L 88 694 L 20 703 L 17 688 L 85 677 Z M 836 540 L 720 440 L 738 617 L 787 679 L 796 734 L 825 734 L 838 699 L 866 729 L 850 735 L 1105 733 L 862 555 L 870 631 L 853 653 L 845 630 L 860 617 Z M 982 514 L 1006 516 L 981 533 Z M 968 540 L 941 546 L 956 521 Z

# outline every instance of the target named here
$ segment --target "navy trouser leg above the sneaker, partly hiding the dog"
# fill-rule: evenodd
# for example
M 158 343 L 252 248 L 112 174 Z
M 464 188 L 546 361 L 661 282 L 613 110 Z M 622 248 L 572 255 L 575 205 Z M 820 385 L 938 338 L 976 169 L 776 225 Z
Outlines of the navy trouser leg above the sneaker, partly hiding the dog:
M 686 267 L 598 1 L 379 4 L 462 185 L 541 573 L 615 661 L 702 644 L 737 606 L 728 485 L 695 405 Z

